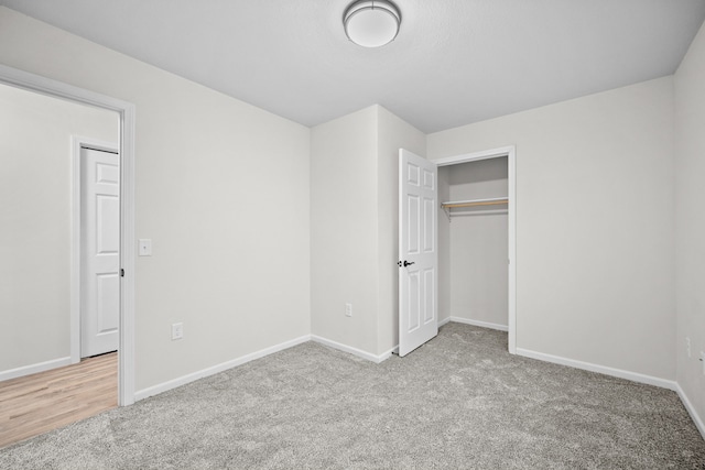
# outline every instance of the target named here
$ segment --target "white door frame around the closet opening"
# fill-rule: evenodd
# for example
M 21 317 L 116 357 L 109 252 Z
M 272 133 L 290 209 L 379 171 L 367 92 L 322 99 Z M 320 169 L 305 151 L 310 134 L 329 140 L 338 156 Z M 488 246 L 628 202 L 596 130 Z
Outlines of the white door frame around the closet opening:
M 507 157 L 509 185 L 509 352 L 517 353 L 517 149 L 514 145 L 433 160 L 438 166 Z

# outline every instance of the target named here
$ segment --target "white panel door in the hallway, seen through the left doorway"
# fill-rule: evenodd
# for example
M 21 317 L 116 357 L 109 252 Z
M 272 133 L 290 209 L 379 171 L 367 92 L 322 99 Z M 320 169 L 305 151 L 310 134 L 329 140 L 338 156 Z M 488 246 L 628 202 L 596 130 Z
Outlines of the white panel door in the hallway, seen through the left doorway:
M 120 157 L 80 150 L 80 357 L 118 349 Z

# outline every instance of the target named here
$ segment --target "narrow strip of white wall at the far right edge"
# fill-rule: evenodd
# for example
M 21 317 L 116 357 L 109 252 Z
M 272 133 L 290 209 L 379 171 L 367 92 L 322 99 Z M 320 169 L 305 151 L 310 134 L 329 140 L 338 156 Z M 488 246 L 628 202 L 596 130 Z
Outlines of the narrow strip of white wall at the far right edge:
M 677 382 L 705 436 L 705 26 L 675 74 Z M 691 339 L 691 357 L 685 341 Z

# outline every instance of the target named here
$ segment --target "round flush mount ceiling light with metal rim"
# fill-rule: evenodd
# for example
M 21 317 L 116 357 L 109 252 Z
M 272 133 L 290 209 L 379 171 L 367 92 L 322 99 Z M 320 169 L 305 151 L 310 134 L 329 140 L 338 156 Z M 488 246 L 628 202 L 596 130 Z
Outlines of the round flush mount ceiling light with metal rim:
M 362 47 L 379 47 L 390 43 L 399 33 L 401 13 L 386 0 L 360 0 L 350 3 L 343 15 L 345 34 Z

